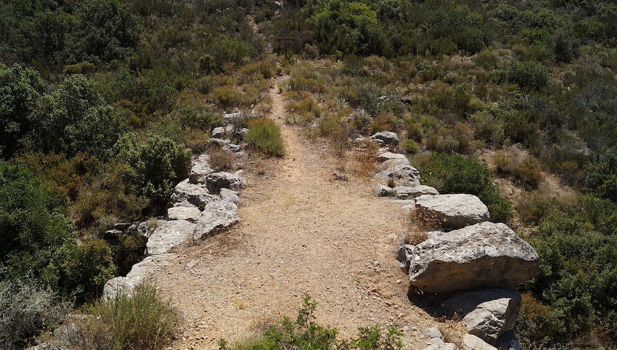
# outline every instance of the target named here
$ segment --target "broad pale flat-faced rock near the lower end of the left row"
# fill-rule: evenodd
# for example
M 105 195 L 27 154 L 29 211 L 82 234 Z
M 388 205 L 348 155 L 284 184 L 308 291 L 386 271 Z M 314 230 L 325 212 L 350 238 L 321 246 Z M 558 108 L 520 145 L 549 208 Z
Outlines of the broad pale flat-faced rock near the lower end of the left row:
M 148 238 L 146 256 L 167 253 L 193 238 L 195 224 L 186 220 L 162 221 Z

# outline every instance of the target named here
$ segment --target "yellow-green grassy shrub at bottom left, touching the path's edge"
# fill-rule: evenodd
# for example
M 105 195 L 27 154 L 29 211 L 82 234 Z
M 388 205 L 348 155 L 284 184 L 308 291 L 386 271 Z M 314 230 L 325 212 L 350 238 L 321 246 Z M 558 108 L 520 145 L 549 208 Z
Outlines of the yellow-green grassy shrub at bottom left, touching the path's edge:
M 78 350 L 159 350 L 167 348 L 180 322 L 171 302 L 144 284 L 131 295 L 118 290 L 115 298 L 96 301 L 85 312 L 88 317 L 69 319 L 73 327 L 57 342 Z

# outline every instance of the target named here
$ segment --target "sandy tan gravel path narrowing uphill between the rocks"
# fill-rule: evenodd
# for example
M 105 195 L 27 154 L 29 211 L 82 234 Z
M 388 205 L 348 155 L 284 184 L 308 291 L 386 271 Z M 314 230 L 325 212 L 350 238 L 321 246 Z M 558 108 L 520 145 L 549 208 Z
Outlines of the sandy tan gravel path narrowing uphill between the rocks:
M 240 224 L 177 250 L 180 258 L 156 277 L 184 317 L 173 349 L 217 349 L 220 338 L 251 336 L 295 317 L 304 293 L 319 303 L 317 321 L 342 336 L 358 326 L 408 326 L 405 348 L 423 349 L 421 334 L 434 321 L 407 300 L 408 282 L 395 264 L 400 207 L 371 195 L 374 184 L 332 181 L 336 162 L 326 145 L 284 124 L 277 91 L 270 116 L 288 155 L 273 161 L 267 178 L 247 173 Z

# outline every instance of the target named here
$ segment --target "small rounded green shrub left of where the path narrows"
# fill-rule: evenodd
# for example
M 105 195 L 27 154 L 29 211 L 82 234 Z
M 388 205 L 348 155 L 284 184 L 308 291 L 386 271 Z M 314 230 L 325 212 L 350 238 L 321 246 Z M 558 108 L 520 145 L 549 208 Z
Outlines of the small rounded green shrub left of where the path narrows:
M 281 128 L 273 120 L 260 118 L 251 121 L 249 127 L 246 140 L 252 149 L 273 157 L 285 155 Z

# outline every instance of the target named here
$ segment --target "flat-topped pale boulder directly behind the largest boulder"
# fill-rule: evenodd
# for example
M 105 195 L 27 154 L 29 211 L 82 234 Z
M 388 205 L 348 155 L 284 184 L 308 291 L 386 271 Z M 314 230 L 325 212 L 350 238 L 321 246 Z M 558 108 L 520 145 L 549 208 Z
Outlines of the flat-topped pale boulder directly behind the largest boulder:
M 480 198 L 474 195 L 421 195 L 415 203 L 418 218 L 441 224 L 447 229 L 488 221 L 491 216 Z

